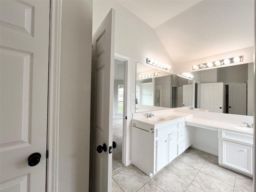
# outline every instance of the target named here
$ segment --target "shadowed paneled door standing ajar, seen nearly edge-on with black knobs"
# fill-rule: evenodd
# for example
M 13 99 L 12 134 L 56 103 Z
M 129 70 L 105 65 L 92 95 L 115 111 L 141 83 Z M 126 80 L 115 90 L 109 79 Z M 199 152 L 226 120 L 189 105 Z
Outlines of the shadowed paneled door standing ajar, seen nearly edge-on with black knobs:
M 115 10 L 92 38 L 90 191 L 111 192 Z M 102 150 L 102 152 L 101 152 Z

